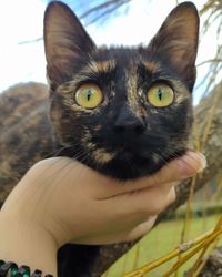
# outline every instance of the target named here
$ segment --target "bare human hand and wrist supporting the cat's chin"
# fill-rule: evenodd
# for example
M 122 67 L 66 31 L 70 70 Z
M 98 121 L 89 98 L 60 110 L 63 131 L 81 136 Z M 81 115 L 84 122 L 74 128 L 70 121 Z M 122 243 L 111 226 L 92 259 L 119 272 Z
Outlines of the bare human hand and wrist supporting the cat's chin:
M 157 174 L 120 182 L 67 157 L 33 165 L 0 212 L 0 259 L 57 276 L 65 243 L 111 244 L 141 237 L 175 198 L 174 185 L 205 167 L 188 152 Z

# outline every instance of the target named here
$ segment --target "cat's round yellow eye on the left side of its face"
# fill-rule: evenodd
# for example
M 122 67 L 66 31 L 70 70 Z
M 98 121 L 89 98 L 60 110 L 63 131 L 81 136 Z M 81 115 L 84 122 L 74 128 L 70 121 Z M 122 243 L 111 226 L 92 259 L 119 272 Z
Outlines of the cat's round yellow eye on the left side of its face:
M 95 84 L 83 84 L 75 92 L 75 102 L 85 109 L 94 109 L 102 102 L 102 92 Z

